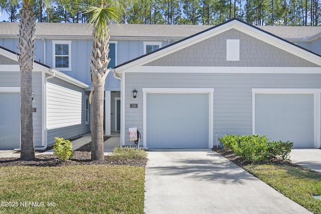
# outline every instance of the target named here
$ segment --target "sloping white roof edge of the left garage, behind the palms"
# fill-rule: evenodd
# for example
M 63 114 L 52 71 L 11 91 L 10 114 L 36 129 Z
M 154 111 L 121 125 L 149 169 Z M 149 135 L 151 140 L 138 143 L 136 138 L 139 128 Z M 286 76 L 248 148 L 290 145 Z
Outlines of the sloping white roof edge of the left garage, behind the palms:
M 17 52 L 11 51 L 5 47 L 0 46 L 0 55 L 3 55 L 11 60 L 18 62 L 19 54 Z M 17 65 L 17 66 L 19 66 L 19 65 Z M 55 74 L 56 78 L 66 81 L 68 83 L 71 83 L 75 86 L 78 86 L 78 87 L 81 87 L 84 89 L 89 88 L 89 85 L 87 85 L 83 82 L 80 82 L 79 80 L 76 80 L 76 79 L 74 79 L 64 73 L 61 73 L 60 71 L 57 71 L 56 69 L 54 69 L 48 65 L 34 61 L 34 66 L 44 70 L 47 74 L 50 74 L 50 75 Z

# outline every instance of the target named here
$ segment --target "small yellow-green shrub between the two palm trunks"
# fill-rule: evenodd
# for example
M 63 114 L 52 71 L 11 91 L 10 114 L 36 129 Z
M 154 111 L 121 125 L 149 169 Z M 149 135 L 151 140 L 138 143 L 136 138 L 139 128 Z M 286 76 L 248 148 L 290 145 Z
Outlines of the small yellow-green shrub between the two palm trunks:
M 64 140 L 62 137 L 55 137 L 55 143 L 53 145 L 54 154 L 63 160 L 67 160 L 74 155 L 72 150 L 72 143 L 70 140 Z

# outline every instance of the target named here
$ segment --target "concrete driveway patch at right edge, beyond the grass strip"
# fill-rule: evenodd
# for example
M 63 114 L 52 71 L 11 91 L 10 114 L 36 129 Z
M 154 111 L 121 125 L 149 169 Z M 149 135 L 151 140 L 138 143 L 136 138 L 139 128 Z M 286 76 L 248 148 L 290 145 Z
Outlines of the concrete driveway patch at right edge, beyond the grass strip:
M 292 163 L 321 173 L 321 149 L 292 149 Z

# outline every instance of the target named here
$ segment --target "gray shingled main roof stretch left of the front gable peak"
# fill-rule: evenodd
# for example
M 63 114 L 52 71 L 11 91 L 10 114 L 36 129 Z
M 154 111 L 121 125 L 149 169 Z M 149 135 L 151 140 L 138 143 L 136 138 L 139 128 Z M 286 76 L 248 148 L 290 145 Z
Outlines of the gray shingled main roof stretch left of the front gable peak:
M 0 37 L 17 37 L 19 23 L 0 22 Z M 198 25 L 110 25 L 111 38 L 182 39 L 212 26 Z M 80 23 L 36 23 L 36 37 L 92 38 L 92 27 Z

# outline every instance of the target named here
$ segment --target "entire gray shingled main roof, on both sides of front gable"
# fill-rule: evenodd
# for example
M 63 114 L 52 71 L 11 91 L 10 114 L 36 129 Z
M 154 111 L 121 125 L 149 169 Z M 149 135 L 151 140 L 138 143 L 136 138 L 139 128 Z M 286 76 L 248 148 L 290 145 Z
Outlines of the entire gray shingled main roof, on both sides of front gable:
M 0 37 L 17 37 L 19 23 L 0 22 Z M 183 39 L 210 29 L 208 25 L 110 25 L 112 39 L 121 38 L 171 38 Z M 257 26 L 273 35 L 293 41 L 309 41 L 321 35 L 321 27 Z M 80 23 L 36 23 L 36 37 L 87 38 L 92 28 Z

